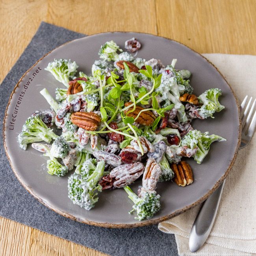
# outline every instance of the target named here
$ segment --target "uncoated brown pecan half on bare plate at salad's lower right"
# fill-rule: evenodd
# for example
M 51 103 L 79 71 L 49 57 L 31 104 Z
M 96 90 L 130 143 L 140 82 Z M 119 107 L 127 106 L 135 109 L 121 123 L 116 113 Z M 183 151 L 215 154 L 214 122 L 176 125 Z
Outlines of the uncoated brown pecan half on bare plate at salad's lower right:
M 171 168 L 175 174 L 174 181 L 179 186 L 185 187 L 193 183 L 193 173 L 190 165 L 186 161 L 181 161 L 180 163 L 172 163 Z

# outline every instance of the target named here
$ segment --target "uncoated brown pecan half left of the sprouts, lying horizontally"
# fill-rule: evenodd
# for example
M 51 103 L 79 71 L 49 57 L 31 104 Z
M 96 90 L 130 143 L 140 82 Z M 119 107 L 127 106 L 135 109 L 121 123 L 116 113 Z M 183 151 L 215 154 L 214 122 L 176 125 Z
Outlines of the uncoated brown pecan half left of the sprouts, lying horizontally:
M 70 120 L 73 124 L 87 131 L 95 131 L 101 121 L 100 117 L 93 112 L 72 113 Z

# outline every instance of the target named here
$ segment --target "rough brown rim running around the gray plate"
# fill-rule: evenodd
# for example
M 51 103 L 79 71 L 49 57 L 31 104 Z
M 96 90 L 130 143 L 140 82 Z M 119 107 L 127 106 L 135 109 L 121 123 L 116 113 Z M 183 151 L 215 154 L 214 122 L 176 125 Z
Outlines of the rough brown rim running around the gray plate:
M 228 85 L 228 87 L 230 88 L 230 91 L 232 93 L 232 95 L 234 96 L 235 100 L 236 100 L 236 106 L 237 106 L 237 110 L 238 110 L 238 116 L 239 116 L 239 134 L 238 134 L 238 141 L 237 141 L 237 145 L 236 145 L 236 150 L 234 152 L 234 156 L 232 158 L 232 160 L 230 161 L 230 164 L 228 166 L 228 168 L 226 169 L 225 173 L 223 174 L 223 176 L 221 176 L 221 178 L 219 180 L 217 180 L 217 182 L 214 184 L 214 186 L 208 190 L 208 192 L 200 197 L 197 201 L 195 201 L 193 204 L 189 204 L 188 206 L 182 208 L 182 209 L 179 209 L 177 211 L 174 211 L 173 213 L 171 214 L 167 214 L 163 217 L 159 217 L 157 219 L 148 219 L 148 220 L 145 220 L 145 221 L 142 221 L 142 222 L 137 222 L 137 223 L 132 223 L 132 224 L 113 224 L 113 223 L 100 223 L 100 222 L 94 222 L 94 221 L 89 221 L 89 220 L 86 220 L 86 219 L 80 219 L 80 218 L 76 218 L 74 217 L 72 214 L 70 213 L 66 213 L 64 211 L 61 211 L 61 210 L 58 210 L 58 209 L 55 209 L 53 206 L 47 204 L 46 202 L 44 202 L 44 200 L 39 197 L 35 191 L 33 191 L 32 187 L 30 186 L 27 186 L 26 184 L 23 183 L 22 179 L 20 178 L 19 174 L 17 173 L 16 169 L 13 167 L 12 165 L 12 162 L 11 162 L 11 159 L 9 157 L 9 154 L 8 154 L 8 150 L 7 150 L 7 146 L 6 146 L 6 137 L 5 137 L 5 133 L 6 133 L 6 127 L 5 127 L 5 124 L 6 124 L 6 118 L 7 118 L 7 110 L 9 108 L 9 104 L 12 100 L 12 97 L 13 97 L 13 94 L 15 93 L 15 90 L 19 87 L 19 83 L 23 80 L 23 78 L 26 76 L 26 74 L 28 72 L 30 72 L 30 70 L 33 69 L 33 67 L 35 67 L 37 65 L 37 63 L 39 63 L 39 61 L 41 61 L 42 59 L 44 59 L 48 54 L 50 54 L 51 52 L 53 52 L 54 50 L 56 49 L 59 49 L 63 46 L 65 46 L 66 44 L 68 43 L 71 43 L 73 41 L 78 41 L 78 40 L 82 40 L 82 39 L 85 39 L 85 38 L 88 38 L 88 37 L 93 37 L 95 35 L 100 35 L 100 34 L 106 34 L 106 33 L 140 33 L 140 34 L 147 34 L 147 35 L 152 35 L 152 36 L 155 36 L 155 37 L 161 37 L 163 39 L 167 39 L 169 41 L 174 41 L 180 45 L 183 45 L 183 46 L 186 46 L 187 48 L 189 48 L 191 51 L 195 52 L 196 54 L 198 54 L 199 56 L 201 56 L 203 59 L 205 59 L 208 63 L 210 63 L 216 70 L 217 72 L 221 75 L 221 77 L 223 78 L 223 80 L 226 82 L 226 84 Z M 224 78 L 223 74 L 219 71 L 219 69 L 217 67 L 215 67 L 215 65 L 213 63 L 211 63 L 211 61 L 209 61 L 206 57 L 202 56 L 200 53 L 198 53 L 197 51 L 193 50 L 192 48 L 190 48 L 189 46 L 183 44 L 183 43 L 180 43 L 179 41 L 176 41 L 174 39 L 170 39 L 170 38 L 167 38 L 167 37 L 163 37 L 163 36 L 160 36 L 160 35 L 154 35 L 152 33 L 145 33 L 145 32 L 135 32 L 135 31 L 108 31 L 108 32 L 100 32 L 100 33 L 94 33 L 92 35 L 85 35 L 84 37 L 80 37 L 80 38 L 77 38 L 77 39 L 73 39 L 73 40 L 70 40 L 70 41 L 67 41 L 66 43 L 63 43 L 62 45 L 59 45 L 58 47 L 54 48 L 53 50 L 50 50 L 49 52 L 47 52 L 44 56 L 42 56 L 40 59 L 38 59 L 22 76 L 21 78 L 19 79 L 19 81 L 17 82 L 17 84 L 15 85 L 15 87 L 13 88 L 13 91 L 11 92 L 11 95 L 9 97 L 9 101 L 8 101 L 8 104 L 6 106 L 6 110 L 5 110 L 5 114 L 4 114 L 4 120 L 3 120 L 3 142 L 4 142 L 4 149 L 5 149 L 5 152 L 6 152 L 6 156 L 7 156 L 7 159 L 9 161 L 9 164 L 11 166 L 11 169 L 13 171 L 13 173 L 15 174 L 15 176 L 17 177 L 17 179 L 19 180 L 20 184 L 26 189 L 26 191 L 28 191 L 28 193 L 30 193 L 34 198 L 36 198 L 41 204 L 43 204 L 44 206 L 46 206 L 47 208 L 49 208 L 50 210 L 58 213 L 59 215 L 62 215 L 63 217 L 66 217 L 66 218 L 69 218 L 69 219 L 72 219 L 74 221 L 78 221 L 80 223 L 84 223 L 84 224 L 89 224 L 89 225 L 92 225 L 92 226 L 100 226 L 100 227 L 104 227 L 104 228 L 135 228 L 135 227 L 141 227 L 141 226 L 148 226 L 148 225 L 152 225 L 152 224 L 158 224 L 162 221 L 166 221 L 168 219 L 171 219 L 195 206 L 197 206 L 198 204 L 200 204 L 201 202 L 204 202 L 204 200 L 206 200 L 220 185 L 221 183 L 224 181 L 224 179 L 226 178 L 226 176 L 228 175 L 228 173 L 230 172 L 230 169 L 232 168 L 235 160 L 236 160 L 236 157 L 237 157 L 237 152 L 239 150 L 239 146 L 241 144 L 241 119 L 240 119 L 240 108 L 239 108 L 239 103 L 238 103 L 238 100 L 237 100 L 237 97 L 236 97 L 236 94 L 234 93 L 232 87 L 230 86 L 230 84 L 226 81 L 226 79 Z

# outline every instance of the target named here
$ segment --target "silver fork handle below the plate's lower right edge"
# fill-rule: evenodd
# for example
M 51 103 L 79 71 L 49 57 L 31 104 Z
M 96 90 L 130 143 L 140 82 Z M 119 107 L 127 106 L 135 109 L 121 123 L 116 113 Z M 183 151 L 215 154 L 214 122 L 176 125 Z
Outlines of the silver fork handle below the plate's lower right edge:
M 189 236 L 189 249 L 196 252 L 208 238 L 219 208 L 225 181 L 208 197 L 200 208 Z

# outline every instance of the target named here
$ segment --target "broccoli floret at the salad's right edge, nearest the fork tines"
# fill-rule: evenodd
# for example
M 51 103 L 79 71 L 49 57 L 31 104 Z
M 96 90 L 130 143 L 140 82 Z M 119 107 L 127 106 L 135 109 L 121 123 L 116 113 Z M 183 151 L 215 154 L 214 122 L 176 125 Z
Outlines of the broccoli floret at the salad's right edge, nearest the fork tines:
M 207 118 L 212 117 L 213 113 L 220 112 L 225 107 L 219 103 L 219 96 L 221 96 L 222 91 L 218 88 L 212 88 L 200 96 L 198 96 L 198 100 L 201 104 L 201 108 L 198 109 L 198 113 L 200 116 Z

